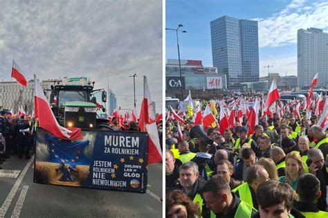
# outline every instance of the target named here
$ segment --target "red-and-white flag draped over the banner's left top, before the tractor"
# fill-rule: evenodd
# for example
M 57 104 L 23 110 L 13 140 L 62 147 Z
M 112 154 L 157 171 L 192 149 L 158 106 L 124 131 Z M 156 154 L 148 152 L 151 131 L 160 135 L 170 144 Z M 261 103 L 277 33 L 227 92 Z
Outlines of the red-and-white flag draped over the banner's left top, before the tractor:
M 82 131 L 80 128 L 69 128 L 66 129 L 61 127 L 57 122 L 53 111 L 44 96 L 44 91 L 37 81 L 37 76 L 34 75 L 34 87 L 35 87 L 35 115 L 39 119 L 39 127 L 53 134 L 57 138 L 67 139 L 67 140 L 79 140 L 83 139 Z

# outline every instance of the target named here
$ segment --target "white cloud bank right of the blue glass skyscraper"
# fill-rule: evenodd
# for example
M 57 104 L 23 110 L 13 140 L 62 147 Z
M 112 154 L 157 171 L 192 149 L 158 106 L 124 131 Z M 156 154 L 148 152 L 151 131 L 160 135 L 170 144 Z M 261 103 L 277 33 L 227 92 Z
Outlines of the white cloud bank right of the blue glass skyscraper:
M 297 43 L 300 28 L 327 28 L 328 2 L 305 5 L 306 1 L 292 1 L 280 13 L 259 21 L 259 47 L 277 47 Z

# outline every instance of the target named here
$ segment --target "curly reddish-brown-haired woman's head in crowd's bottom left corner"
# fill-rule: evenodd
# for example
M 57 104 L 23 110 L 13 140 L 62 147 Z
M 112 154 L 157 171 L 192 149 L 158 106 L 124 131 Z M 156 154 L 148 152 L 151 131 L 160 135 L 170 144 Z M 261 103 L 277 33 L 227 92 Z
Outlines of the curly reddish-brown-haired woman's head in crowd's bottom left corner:
M 167 218 L 200 217 L 198 204 L 192 201 L 181 190 L 173 190 L 166 194 L 165 215 Z

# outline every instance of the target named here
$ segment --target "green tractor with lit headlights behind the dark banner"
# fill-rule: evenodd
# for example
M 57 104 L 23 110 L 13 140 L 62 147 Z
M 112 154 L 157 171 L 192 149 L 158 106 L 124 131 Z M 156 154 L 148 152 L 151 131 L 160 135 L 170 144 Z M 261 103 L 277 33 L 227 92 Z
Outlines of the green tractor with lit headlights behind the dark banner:
M 97 118 L 95 93 L 101 92 L 102 102 L 107 102 L 104 89 L 93 89 L 95 82 L 89 78 L 69 78 L 51 85 L 51 109 L 63 127 L 82 129 L 112 129 L 109 120 Z M 104 108 L 102 109 L 105 110 Z

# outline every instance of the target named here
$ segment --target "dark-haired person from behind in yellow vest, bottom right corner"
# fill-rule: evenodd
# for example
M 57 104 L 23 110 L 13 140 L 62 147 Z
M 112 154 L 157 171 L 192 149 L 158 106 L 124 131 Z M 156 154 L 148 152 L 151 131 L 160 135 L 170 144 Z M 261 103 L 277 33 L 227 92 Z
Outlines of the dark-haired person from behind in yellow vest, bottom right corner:
M 328 212 L 319 210 L 316 201 L 322 196 L 320 192 L 320 181 L 313 174 L 304 174 L 298 179 L 298 201 L 294 203 L 295 208 L 300 210 L 307 218 L 328 217 Z

